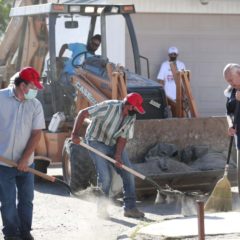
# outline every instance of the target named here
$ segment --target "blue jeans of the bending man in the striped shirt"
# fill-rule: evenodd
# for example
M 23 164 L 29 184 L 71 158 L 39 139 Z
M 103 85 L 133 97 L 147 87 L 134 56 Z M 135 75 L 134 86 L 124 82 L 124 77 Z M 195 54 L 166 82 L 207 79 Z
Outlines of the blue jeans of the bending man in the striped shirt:
M 89 145 L 109 157 L 113 157 L 115 153 L 115 146 L 108 146 L 98 141 L 89 141 Z M 93 159 L 96 170 L 98 184 L 102 188 L 106 196 L 109 194 L 109 190 L 112 182 L 111 167 L 114 167 L 116 172 L 121 176 L 123 181 L 123 201 L 124 209 L 132 209 L 136 207 L 136 194 L 135 194 L 135 179 L 134 176 L 120 168 L 116 168 L 111 162 L 100 157 L 99 155 L 89 151 L 91 158 Z M 132 168 L 131 162 L 128 159 L 126 150 L 122 153 L 122 163 L 129 168 Z

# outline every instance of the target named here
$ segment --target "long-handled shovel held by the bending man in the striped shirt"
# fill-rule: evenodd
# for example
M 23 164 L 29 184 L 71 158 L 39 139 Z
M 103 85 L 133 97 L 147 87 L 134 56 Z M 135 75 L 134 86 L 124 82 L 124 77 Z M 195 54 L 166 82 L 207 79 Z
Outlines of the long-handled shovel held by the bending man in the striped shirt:
M 117 161 L 114 160 L 113 158 L 105 155 L 104 153 L 98 151 L 97 149 L 89 146 L 88 144 L 86 144 L 86 143 L 84 143 L 84 142 L 82 142 L 82 141 L 80 142 L 80 145 L 81 145 L 82 147 L 90 150 L 91 152 L 94 152 L 94 153 L 96 153 L 97 155 L 103 157 L 104 159 L 106 159 L 107 161 L 109 161 L 109 162 L 111 162 L 111 163 L 113 163 L 113 164 L 116 164 L 116 163 L 117 163 Z M 182 192 L 177 191 L 177 190 L 172 190 L 172 189 L 170 189 L 170 190 L 165 190 L 165 189 L 162 189 L 153 179 L 151 179 L 151 178 L 149 178 L 149 177 L 147 177 L 147 176 L 145 176 L 145 175 L 143 175 L 143 174 L 135 171 L 134 169 L 129 168 L 129 167 L 123 165 L 123 164 L 121 165 L 121 168 L 124 169 L 125 171 L 133 174 L 134 176 L 136 176 L 136 177 L 138 177 L 138 178 L 141 178 L 142 180 L 146 180 L 146 181 L 150 182 L 154 187 L 157 188 L 157 196 L 156 196 L 156 199 L 155 199 L 155 203 L 159 203 L 159 202 L 161 201 L 161 196 L 160 196 L 160 195 L 166 197 L 167 195 L 175 195 L 175 194 L 180 194 L 180 195 L 182 195 L 182 194 L 183 194 Z

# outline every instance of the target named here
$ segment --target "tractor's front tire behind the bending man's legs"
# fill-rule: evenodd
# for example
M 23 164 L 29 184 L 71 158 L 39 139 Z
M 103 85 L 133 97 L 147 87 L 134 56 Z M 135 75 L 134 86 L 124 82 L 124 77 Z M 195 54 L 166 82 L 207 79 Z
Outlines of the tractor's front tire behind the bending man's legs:
M 96 170 L 88 150 L 73 144 L 69 138 L 64 142 L 62 169 L 64 180 L 74 192 L 96 185 Z

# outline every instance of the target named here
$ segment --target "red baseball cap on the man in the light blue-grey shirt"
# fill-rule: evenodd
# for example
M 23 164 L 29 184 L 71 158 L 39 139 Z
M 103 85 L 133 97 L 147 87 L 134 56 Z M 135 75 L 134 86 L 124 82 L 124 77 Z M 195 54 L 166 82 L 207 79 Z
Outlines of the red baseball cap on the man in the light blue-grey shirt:
M 19 77 L 27 82 L 33 83 L 38 89 L 43 89 L 40 83 L 40 75 L 33 67 L 25 67 L 19 72 Z

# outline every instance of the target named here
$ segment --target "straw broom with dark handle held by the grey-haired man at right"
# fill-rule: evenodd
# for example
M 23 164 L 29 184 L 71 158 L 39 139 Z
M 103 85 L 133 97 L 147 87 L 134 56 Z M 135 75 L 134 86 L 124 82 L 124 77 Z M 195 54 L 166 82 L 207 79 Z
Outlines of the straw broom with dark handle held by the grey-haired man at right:
M 227 163 L 225 165 L 225 170 L 223 177 L 218 180 L 216 186 L 213 189 L 212 194 L 207 200 L 204 210 L 209 212 L 227 212 L 232 210 L 232 192 L 231 184 L 228 180 L 228 168 L 229 161 L 231 156 L 233 144 L 233 136 L 230 137 L 229 147 L 228 147 L 228 156 Z

